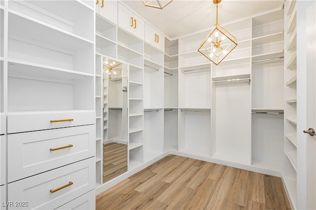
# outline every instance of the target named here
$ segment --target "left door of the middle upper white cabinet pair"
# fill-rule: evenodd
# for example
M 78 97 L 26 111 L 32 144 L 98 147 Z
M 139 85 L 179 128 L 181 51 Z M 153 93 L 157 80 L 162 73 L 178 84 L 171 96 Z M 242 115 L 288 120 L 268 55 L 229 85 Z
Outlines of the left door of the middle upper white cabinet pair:
M 118 4 L 118 26 L 129 33 L 133 33 L 133 13 L 122 4 Z

